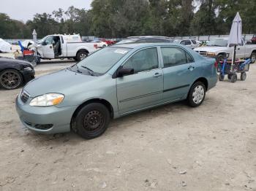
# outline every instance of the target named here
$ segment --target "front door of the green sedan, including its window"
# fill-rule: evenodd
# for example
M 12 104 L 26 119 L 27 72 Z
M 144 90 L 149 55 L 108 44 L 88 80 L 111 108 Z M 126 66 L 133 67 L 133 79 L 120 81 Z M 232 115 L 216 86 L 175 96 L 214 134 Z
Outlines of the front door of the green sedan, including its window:
M 126 114 L 159 104 L 163 74 L 159 69 L 157 47 L 136 52 L 123 68 L 134 69 L 135 74 L 116 79 L 119 113 Z

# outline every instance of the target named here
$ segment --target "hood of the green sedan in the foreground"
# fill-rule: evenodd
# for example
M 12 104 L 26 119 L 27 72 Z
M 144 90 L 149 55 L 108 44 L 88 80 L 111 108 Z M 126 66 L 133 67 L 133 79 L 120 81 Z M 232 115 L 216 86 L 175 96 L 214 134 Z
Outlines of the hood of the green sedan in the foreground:
M 24 87 L 24 90 L 31 97 L 44 95 L 45 93 L 62 93 L 65 95 L 66 93 L 70 93 L 72 88 L 89 84 L 90 81 L 97 78 L 64 69 L 32 80 Z

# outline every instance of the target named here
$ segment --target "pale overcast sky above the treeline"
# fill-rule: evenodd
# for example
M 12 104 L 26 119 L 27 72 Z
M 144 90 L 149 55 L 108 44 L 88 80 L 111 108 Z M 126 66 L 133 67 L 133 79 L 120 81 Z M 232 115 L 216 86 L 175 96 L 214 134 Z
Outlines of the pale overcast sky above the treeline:
M 3 2 L 4 1 L 4 2 Z M 67 10 L 68 7 L 90 9 L 92 0 L 0 0 L 0 12 L 7 13 L 12 19 L 31 20 L 36 13 L 52 13 L 59 8 Z

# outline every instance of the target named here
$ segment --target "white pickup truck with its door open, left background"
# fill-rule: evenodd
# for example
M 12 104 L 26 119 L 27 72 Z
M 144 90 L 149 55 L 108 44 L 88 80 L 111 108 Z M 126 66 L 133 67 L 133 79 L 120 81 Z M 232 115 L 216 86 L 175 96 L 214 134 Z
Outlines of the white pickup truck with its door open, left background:
M 97 48 L 95 43 L 82 42 L 79 34 L 53 34 L 37 42 L 37 55 L 41 59 L 74 58 L 81 61 Z

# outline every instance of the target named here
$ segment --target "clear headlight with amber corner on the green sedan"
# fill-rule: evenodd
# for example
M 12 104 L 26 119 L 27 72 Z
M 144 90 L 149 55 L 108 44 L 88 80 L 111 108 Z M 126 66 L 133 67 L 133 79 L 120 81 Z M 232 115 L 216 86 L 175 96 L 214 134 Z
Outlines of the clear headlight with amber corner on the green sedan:
M 29 106 L 56 106 L 61 104 L 64 95 L 59 93 L 48 93 L 45 95 L 40 95 L 30 101 Z

